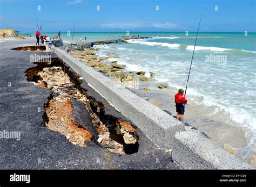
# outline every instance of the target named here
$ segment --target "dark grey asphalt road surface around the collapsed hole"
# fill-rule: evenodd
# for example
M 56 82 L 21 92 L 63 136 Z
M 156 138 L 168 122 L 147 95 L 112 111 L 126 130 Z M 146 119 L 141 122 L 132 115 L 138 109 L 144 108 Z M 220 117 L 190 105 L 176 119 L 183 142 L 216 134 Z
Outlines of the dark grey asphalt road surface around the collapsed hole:
M 35 45 L 29 40 L 0 42 L 0 131 L 21 132 L 19 141 L 0 139 L 0 169 L 179 169 L 170 154 L 154 146 L 139 129 L 138 153 L 119 155 L 99 146 L 73 145 L 46 128 L 43 106 L 51 91 L 26 81 L 25 75 L 26 69 L 36 66 L 30 55 L 46 53 L 11 50 L 28 43 Z M 106 113 L 124 118 L 96 92 L 88 93 L 104 104 Z

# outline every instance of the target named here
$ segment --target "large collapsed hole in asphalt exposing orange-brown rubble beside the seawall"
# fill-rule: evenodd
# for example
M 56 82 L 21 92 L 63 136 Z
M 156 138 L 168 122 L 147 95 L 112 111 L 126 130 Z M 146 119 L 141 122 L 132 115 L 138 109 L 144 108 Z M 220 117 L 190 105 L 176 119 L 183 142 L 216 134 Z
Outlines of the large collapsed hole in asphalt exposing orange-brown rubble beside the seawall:
M 62 62 L 38 63 L 26 71 L 28 81 L 52 90 L 45 107 L 45 125 L 52 131 L 60 132 L 77 146 L 98 146 L 118 154 L 138 152 L 139 136 L 136 127 L 113 116 L 105 116 L 104 105 L 87 96 L 80 88 L 79 77 L 69 71 Z M 82 104 L 82 105 L 79 105 Z M 76 120 L 75 108 L 86 112 L 90 117 L 85 123 Z M 85 113 L 85 114 L 86 114 Z M 100 114 L 100 115 L 99 115 Z

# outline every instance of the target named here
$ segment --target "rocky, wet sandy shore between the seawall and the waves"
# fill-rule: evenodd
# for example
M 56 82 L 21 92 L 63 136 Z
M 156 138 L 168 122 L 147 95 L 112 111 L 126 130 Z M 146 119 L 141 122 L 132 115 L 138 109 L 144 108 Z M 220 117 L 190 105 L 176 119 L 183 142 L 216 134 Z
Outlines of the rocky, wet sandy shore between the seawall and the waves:
M 99 44 L 112 43 L 114 42 L 99 42 Z M 145 73 L 143 73 L 142 75 L 137 75 L 137 71 L 129 71 L 125 68 L 125 66 L 123 66 L 122 64 L 118 64 L 118 62 L 116 61 L 112 61 L 111 63 L 111 61 L 109 60 L 111 57 L 118 57 L 118 55 L 114 55 L 114 52 L 112 54 L 107 54 L 107 56 L 105 57 L 99 57 L 97 55 L 97 51 L 100 50 L 101 49 L 98 48 L 86 49 L 84 52 L 76 51 L 72 55 L 75 57 L 79 57 L 84 63 L 93 67 L 100 73 L 103 73 L 105 76 L 110 77 L 115 82 L 119 81 L 119 83 L 122 83 L 122 80 L 124 80 L 124 82 L 126 83 L 132 80 L 138 81 L 140 88 L 131 89 L 134 93 L 136 93 L 136 95 L 158 106 L 161 110 L 169 111 L 172 116 L 176 115 L 176 108 L 173 99 L 174 95 L 173 93 L 171 93 L 170 87 L 167 89 L 158 89 L 156 80 L 154 80 L 153 77 L 147 78 L 146 81 L 141 81 L 140 78 L 145 77 Z M 114 67 L 112 65 L 114 65 Z M 116 76 L 111 76 L 113 74 Z M 144 90 L 145 88 L 152 86 L 158 90 Z M 219 119 L 218 117 L 207 116 L 207 114 L 204 114 L 203 112 L 205 109 L 207 110 L 207 106 L 205 107 L 205 109 L 198 110 L 196 109 L 197 106 L 195 105 L 195 103 L 193 103 L 192 101 L 189 102 L 191 104 L 186 107 L 184 122 L 190 124 L 193 127 L 196 127 L 200 132 L 204 132 L 220 147 L 223 147 L 225 150 L 227 150 L 227 152 L 230 152 L 235 156 L 243 159 L 241 152 L 250 142 L 250 140 L 245 137 L 245 132 L 247 132 L 248 129 L 246 127 L 241 127 L 235 123 L 225 124 L 224 121 Z M 205 124 L 207 124 L 207 126 Z M 245 161 L 251 164 L 251 166 L 256 167 L 254 160 L 254 155 L 249 155 L 245 159 Z

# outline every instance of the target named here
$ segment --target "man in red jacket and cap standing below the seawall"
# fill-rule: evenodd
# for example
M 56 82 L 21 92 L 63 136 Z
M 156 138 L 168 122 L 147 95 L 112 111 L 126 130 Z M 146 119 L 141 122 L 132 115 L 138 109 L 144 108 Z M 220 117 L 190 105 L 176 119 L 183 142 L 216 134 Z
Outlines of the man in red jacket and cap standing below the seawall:
M 183 96 L 184 90 L 179 89 L 178 93 L 175 95 L 175 103 L 176 103 L 176 119 L 183 122 L 184 120 L 184 112 L 185 112 L 185 105 L 187 103 L 186 98 Z

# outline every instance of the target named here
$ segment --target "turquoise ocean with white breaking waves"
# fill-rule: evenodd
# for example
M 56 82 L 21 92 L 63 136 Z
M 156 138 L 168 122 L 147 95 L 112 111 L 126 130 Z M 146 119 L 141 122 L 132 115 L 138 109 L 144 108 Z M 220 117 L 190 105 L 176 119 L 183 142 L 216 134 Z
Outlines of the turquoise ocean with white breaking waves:
M 57 35 L 57 33 L 53 33 Z M 100 56 L 117 54 L 110 60 L 126 64 L 128 70 L 149 71 L 170 91 L 185 89 L 196 33 L 130 32 L 152 37 L 124 44 L 99 46 Z M 47 34 L 46 34 L 47 35 Z M 51 33 L 49 33 L 51 35 Z M 119 39 L 126 32 L 74 33 L 73 42 Z M 54 36 L 54 35 L 53 35 Z M 71 41 L 71 35 L 62 34 Z M 156 88 L 157 89 L 157 88 Z M 186 96 L 206 105 L 211 115 L 248 128 L 253 134 L 243 157 L 255 155 L 256 141 L 256 33 L 199 32 Z

